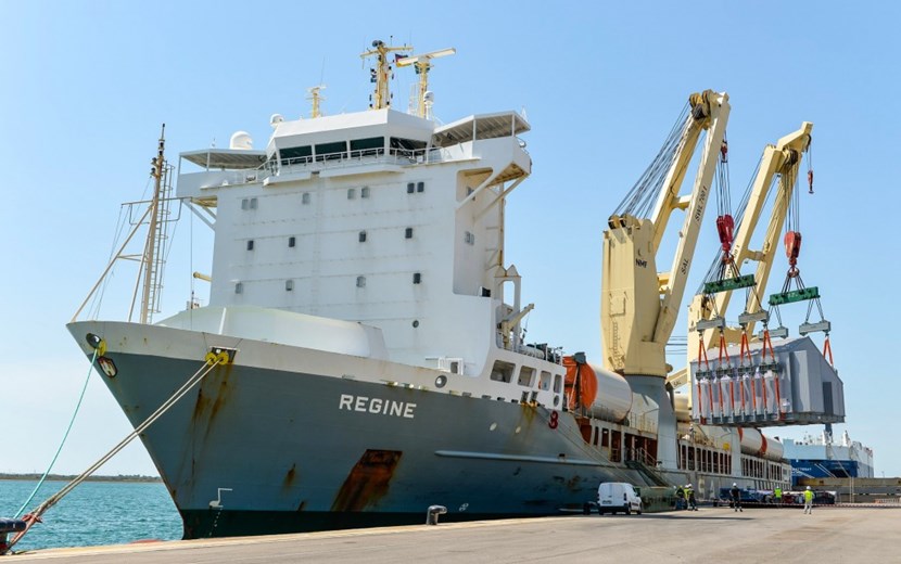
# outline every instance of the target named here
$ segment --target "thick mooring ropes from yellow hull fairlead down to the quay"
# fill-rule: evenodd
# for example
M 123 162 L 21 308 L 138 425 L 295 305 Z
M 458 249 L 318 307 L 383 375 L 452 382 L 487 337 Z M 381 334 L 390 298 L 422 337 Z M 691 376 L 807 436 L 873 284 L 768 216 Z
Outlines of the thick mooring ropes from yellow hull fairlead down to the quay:
M 94 358 L 97 354 L 94 354 Z M 129 433 L 124 439 L 122 439 L 115 447 L 113 447 L 109 452 L 103 454 L 97 462 L 91 464 L 86 471 L 81 474 L 76 476 L 72 479 L 68 484 L 63 486 L 60 491 L 50 496 L 47 500 L 45 500 L 40 505 L 38 505 L 34 511 L 30 513 L 26 513 L 23 516 L 23 521 L 25 522 L 25 528 L 20 530 L 15 534 L 15 536 L 3 547 L 3 552 L 0 552 L 0 555 L 8 554 L 11 552 L 12 548 L 15 546 L 16 542 L 22 540 L 22 537 L 28 533 L 28 530 L 36 524 L 41 523 L 41 516 L 53 505 L 60 502 L 65 496 L 68 495 L 69 491 L 75 489 L 76 486 L 85 482 L 91 474 L 97 472 L 103 464 L 110 461 L 114 456 L 116 456 L 122 449 L 128 446 L 138 435 L 147 431 L 147 428 L 152 425 L 157 419 L 160 419 L 166 411 L 169 410 L 178 400 L 185 397 L 188 392 L 191 390 L 201 380 L 206 376 L 210 372 L 213 371 L 219 364 L 227 363 L 229 361 L 228 354 L 220 354 L 220 355 L 207 355 L 204 359 L 203 366 L 194 372 L 194 374 L 189 377 L 185 384 L 178 388 L 175 394 L 172 395 L 166 401 L 164 401 L 153 413 L 151 413 L 140 425 L 135 427 L 135 431 Z M 93 359 L 91 361 L 93 366 Z M 55 460 L 55 459 L 54 459 Z M 27 502 L 26 502 L 27 504 Z M 22 510 L 20 510 L 21 512 Z

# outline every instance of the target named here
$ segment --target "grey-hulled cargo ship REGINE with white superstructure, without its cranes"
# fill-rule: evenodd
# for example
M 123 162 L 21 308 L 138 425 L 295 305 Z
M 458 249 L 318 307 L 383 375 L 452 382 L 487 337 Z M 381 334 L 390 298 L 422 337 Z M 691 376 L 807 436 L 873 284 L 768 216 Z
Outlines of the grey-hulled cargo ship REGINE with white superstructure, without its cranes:
M 778 440 L 524 342 L 534 305 L 504 236 L 531 126 L 512 111 L 433 119 L 427 79 L 451 52 L 375 41 L 368 108 L 321 115 L 314 90 L 309 118 L 271 116 L 265 149 L 239 131 L 181 153 L 174 196 L 161 137 L 141 318 L 68 330 L 185 538 L 422 523 L 433 504 L 451 521 L 555 515 L 601 482 L 789 487 Z M 420 78 L 409 112 L 389 92 L 405 67 Z M 210 297 L 155 321 L 174 202 L 215 232 L 196 274 Z

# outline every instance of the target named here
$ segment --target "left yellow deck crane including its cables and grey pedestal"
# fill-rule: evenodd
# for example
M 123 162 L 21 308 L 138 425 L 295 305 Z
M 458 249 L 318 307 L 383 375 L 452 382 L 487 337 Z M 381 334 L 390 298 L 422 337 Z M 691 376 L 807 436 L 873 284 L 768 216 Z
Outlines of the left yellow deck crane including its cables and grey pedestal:
M 665 347 L 678 313 L 718 156 L 728 120 L 728 95 L 712 90 L 689 97 L 663 148 L 604 232 L 600 317 L 604 362 L 633 392 L 633 414 L 651 421 L 660 435 L 657 460 L 676 463 L 675 414 L 664 379 Z M 680 194 L 688 165 L 706 131 L 691 191 Z M 685 218 L 670 271 L 658 272 L 657 253 L 675 210 Z M 665 436 L 665 435 L 671 436 Z

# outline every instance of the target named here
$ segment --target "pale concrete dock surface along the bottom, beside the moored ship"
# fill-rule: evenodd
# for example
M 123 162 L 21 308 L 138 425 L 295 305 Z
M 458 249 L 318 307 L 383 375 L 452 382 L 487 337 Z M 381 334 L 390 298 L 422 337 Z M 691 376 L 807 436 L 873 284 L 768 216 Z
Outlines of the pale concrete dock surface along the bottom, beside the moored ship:
M 812 515 L 795 508 L 701 508 L 48 549 L 0 556 L 0 564 L 901 562 L 899 523 L 897 508 L 817 508 Z

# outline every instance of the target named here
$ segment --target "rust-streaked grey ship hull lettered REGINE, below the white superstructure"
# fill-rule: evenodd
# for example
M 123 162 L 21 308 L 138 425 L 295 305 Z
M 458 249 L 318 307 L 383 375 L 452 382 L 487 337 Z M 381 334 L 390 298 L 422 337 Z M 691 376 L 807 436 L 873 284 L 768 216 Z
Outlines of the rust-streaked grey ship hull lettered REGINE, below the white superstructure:
M 101 374 L 136 427 L 211 345 L 237 350 L 140 436 L 185 538 L 420 523 L 432 504 L 451 521 L 555 515 L 600 482 L 645 483 L 566 412 L 404 382 L 437 371 L 154 325 L 69 328 L 86 354 L 88 333 L 109 344 L 115 375 Z

